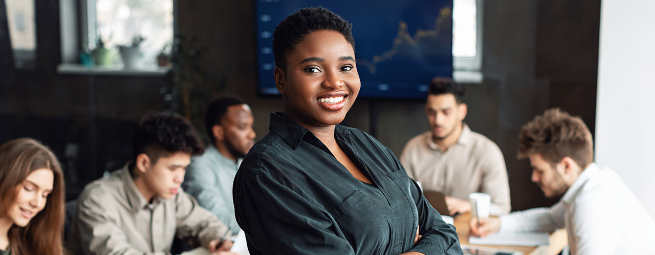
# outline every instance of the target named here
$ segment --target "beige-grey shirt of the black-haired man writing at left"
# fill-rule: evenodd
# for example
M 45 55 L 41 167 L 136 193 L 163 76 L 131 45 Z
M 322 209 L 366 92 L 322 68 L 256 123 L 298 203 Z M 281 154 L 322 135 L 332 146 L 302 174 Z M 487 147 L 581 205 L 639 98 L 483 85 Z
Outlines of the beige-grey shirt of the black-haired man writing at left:
M 71 254 L 169 254 L 176 233 L 206 247 L 226 232 L 213 213 L 181 189 L 174 198 L 148 203 L 126 165 L 86 185 L 77 199 L 68 248 Z

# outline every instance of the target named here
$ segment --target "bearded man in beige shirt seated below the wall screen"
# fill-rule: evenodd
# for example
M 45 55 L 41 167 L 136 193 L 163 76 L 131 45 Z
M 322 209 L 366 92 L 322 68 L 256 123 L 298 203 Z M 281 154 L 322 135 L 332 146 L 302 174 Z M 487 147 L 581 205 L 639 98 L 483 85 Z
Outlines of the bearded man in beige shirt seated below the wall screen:
M 490 213 L 510 212 L 510 185 L 505 160 L 496 143 L 464 123 L 465 88 L 449 78 L 434 78 L 425 105 L 430 131 L 415 136 L 400 163 L 424 190 L 445 195 L 451 215 L 471 210 L 468 194 L 491 196 Z

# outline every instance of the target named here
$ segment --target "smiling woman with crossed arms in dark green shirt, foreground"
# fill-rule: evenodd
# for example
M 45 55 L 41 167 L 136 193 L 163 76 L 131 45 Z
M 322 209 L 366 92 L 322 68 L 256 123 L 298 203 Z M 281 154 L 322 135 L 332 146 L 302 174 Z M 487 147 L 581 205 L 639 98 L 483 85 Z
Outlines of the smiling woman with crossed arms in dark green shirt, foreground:
M 298 10 L 273 33 L 284 112 L 234 179 L 250 254 L 462 254 L 393 153 L 339 125 L 360 91 L 351 26 Z

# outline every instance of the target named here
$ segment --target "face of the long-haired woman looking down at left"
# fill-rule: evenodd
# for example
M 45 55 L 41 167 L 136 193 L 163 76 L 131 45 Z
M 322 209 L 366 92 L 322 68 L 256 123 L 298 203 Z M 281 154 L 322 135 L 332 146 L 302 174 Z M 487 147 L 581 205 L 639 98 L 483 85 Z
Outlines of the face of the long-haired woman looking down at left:
M 54 175 L 52 170 L 41 168 L 30 173 L 28 177 L 16 187 L 16 200 L 9 206 L 7 217 L 16 226 L 27 226 L 29 220 L 37 215 L 48 200 L 52 192 Z

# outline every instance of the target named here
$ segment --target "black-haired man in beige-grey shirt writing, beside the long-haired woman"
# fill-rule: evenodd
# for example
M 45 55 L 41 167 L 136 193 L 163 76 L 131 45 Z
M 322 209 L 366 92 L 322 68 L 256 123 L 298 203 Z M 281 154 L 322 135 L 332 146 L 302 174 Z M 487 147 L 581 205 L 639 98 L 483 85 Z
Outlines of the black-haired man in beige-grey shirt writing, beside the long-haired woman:
M 227 226 L 180 188 L 191 155 L 202 152 L 191 124 L 174 113 L 145 115 L 132 148 L 131 162 L 86 185 L 77 199 L 71 254 L 170 254 L 176 232 L 215 254 L 233 254 Z

